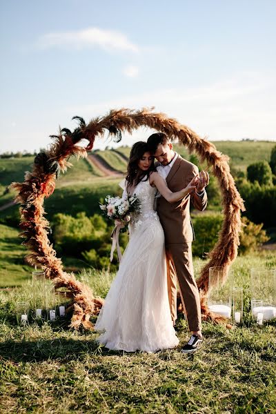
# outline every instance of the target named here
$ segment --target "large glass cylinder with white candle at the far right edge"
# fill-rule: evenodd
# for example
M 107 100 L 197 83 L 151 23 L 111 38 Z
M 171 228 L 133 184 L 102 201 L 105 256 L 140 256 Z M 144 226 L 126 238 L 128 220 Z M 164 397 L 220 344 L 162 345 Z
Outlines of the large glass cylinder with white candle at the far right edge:
M 262 314 L 263 321 L 269 321 L 276 317 L 276 270 L 252 268 L 250 275 L 253 317 L 257 318 L 259 313 Z

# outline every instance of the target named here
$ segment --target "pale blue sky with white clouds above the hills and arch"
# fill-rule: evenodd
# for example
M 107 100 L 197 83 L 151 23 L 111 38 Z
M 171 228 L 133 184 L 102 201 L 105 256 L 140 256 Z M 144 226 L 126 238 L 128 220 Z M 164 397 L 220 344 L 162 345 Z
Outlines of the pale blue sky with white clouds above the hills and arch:
M 0 152 L 121 107 L 210 140 L 276 139 L 274 0 L 2 0 L 0 14 Z

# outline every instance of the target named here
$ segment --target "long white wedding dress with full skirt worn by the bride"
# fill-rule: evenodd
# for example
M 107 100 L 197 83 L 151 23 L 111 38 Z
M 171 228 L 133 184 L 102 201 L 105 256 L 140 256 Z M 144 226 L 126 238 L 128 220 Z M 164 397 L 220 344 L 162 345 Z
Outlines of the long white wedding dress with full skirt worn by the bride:
M 128 352 L 173 348 L 179 343 L 168 303 L 164 232 L 155 212 L 156 188 L 140 181 L 141 213 L 132 215 L 130 241 L 101 308 L 100 344 Z

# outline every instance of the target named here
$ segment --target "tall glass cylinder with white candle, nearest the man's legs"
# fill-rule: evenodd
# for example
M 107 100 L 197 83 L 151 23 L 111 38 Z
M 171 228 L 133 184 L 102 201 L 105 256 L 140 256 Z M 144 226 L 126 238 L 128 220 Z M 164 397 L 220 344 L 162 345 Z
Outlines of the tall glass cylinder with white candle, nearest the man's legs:
M 208 308 L 224 317 L 231 317 L 231 281 L 227 280 L 226 268 L 209 269 Z

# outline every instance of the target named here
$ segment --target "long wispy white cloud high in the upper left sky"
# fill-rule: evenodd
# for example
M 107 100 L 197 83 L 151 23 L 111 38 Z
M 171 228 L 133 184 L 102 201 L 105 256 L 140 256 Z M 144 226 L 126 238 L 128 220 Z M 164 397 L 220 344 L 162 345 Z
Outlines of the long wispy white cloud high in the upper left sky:
M 139 51 L 139 47 L 131 43 L 125 34 L 100 28 L 47 33 L 40 37 L 38 46 L 41 48 L 70 46 L 78 49 L 98 47 L 105 50 Z

